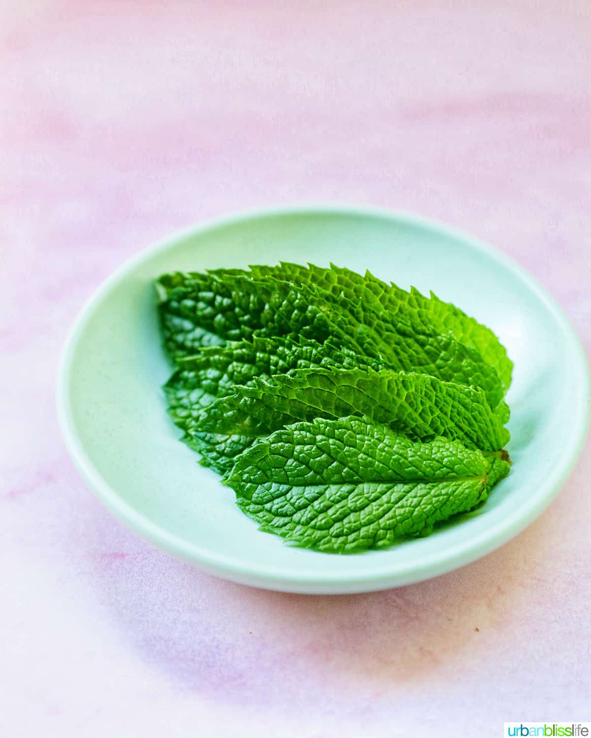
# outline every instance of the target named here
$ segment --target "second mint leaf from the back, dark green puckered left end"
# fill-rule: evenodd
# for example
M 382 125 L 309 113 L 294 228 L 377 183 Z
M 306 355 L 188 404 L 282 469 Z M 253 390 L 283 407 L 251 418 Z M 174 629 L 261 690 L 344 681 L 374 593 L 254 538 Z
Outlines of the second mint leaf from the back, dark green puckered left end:
M 393 368 L 482 387 L 491 407 L 505 394 L 495 368 L 474 348 L 439 334 L 426 311 L 375 311 L 360 300 L 328 297 L 318 287 L 244 275 L 163 275 L 157 283 L 165 348 L 176 361 L 202 345 L 298 334 L 324 343 L 333 337 L 358 354 Z

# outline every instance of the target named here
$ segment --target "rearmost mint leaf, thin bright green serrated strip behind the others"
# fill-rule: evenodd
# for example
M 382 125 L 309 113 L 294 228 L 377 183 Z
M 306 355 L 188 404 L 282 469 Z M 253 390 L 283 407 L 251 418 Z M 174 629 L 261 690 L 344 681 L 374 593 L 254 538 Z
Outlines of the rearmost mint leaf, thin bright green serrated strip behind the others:
M 501 380 L 505 391 L 511 383 L 513 362 L 507 356 L 505 347 L 493 334 L 490 328 L 468 317 L 460 308 L 451 303 L 444 303 L 433 292 L 425 297 L 412 287 L 410 292 L 400 289 L 394 283 L 386 283 L 374 277 L 370 272 L 364 276 L 350 269 L 331 264 L 330 268 L 308 264 L 281 262 L 278 266 L 255 265 L 248 271 L 233 269 L 234 275 L 242 274 L 254 280 L 265 280 L 267 277 L 319 288 L 323 294 L 334 301 L 343 297 L 351 306 L 372 308 L 377 313 L 387 311 L 390 315 L 409 323 L 413 330 L 422 332 L 426 324 L 431 325 L 440 334 L 453 336 L 462 345 L 477 351 L 485 362 L 488 362 Z M 227 272 L 217 269 L 211 272 L 222 276 Z

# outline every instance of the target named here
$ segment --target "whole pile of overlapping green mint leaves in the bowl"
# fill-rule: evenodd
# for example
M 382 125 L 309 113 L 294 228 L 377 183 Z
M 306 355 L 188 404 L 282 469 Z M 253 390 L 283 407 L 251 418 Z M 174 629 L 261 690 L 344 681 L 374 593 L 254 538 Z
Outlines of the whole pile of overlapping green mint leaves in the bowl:
M 329 553 L 386 548 L 508 474 L 513 364 L 434 294 L 293 263 L 156 288 L 171 418 L 262 531 Z

